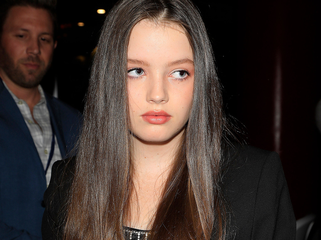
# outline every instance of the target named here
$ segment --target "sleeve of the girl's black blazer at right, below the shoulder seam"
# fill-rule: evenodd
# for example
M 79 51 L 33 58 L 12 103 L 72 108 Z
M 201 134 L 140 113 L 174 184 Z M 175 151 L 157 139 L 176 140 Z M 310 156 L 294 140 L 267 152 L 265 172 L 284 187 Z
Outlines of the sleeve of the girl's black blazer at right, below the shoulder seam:
M 295 239 L 296 221 L 277 153 L 267 156 L 258 181 L 251 239 Z

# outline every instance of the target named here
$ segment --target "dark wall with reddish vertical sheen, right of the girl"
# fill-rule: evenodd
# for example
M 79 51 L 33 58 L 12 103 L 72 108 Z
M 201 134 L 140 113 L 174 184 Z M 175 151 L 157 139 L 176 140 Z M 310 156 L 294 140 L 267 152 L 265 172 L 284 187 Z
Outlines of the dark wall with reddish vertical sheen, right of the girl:
M 239 120 L 249 144 L 279 153 L 296 218 L 318 212 L 316 2 L 198 6 L 213 40 L 227 113 Z

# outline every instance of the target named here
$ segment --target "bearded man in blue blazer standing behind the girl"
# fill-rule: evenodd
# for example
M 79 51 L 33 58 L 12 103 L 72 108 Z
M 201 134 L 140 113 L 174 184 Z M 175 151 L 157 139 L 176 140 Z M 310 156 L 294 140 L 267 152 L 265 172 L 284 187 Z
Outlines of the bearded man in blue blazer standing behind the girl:
M 0 239 L 41 239 L 43 194 L 52 164 L 79 133 L 80 113 L 39 85 L 54 49 L 54 6 L 0 7 Z

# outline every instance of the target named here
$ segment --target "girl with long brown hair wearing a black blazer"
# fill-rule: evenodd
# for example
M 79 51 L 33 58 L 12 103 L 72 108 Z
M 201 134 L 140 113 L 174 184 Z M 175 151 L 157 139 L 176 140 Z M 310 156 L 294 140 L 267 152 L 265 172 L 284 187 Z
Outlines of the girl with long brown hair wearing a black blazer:
M 53 166 L 43 239 L 294 239 L 277 154 L 224 139 L 189 0 L 123 0 L 94 58 L 77 156 Z

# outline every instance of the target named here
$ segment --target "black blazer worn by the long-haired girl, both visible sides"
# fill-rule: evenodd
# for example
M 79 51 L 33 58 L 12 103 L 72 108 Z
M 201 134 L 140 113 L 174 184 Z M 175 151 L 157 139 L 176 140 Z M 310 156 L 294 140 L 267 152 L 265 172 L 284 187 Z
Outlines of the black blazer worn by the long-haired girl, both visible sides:
M 67 166 L 64 184 L 57 188 L 65 164 L 66 160 L 62 160 L 52 167 L 52 177 L 44 195 L 43 240 L 59 238 L 57 215 L 72 180 L 73 161 Z M 229 147 L 225 152 L 222 174 L 227 239 L 295 239 L 296 221 L 277 153 L 249 146 Z

